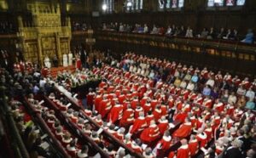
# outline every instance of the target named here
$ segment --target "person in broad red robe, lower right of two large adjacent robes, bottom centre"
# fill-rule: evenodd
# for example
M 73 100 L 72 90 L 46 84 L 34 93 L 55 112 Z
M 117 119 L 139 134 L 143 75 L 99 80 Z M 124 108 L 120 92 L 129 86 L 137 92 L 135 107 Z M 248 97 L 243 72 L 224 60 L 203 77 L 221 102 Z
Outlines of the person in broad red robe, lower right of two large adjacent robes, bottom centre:
M 159 127 L 155 124 L 155 121 L 150 121 L 150 126 L 143 130 L 141 133 L 141 140 L 144 144 L 150 144 L 160 137 Z

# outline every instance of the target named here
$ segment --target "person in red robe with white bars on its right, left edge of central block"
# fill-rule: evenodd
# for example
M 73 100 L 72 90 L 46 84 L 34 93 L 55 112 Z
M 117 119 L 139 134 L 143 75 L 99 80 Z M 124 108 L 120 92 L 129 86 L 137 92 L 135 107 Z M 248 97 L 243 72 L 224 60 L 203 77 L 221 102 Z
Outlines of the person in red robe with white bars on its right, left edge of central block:
M 122 116 L 123 116 L 123 105 L 119 104 L 118 101 L 116 101 L 116 104 L 108 113 L 108 121 L 114 124 L 116 121 L 119 121 L 122 118 Z

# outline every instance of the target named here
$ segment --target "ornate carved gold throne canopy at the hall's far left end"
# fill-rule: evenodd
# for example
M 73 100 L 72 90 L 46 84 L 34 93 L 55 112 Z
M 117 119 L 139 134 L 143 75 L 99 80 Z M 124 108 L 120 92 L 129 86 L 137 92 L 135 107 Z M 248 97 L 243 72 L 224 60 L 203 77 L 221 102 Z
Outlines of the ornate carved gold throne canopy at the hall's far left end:
M 59 4 L 27 3 L 27 9 L 32 13 L 32 21 L 25 22 L 27 25 L 24 25 L 22 17 L 19 16 L 17 33 L 25 59 L 38 61 L 43 65 L 46 56 L 50 60 L 57 56 L 61 64 L 62 54 L 67 54 L 70 50 L 70 19 L 66 18 L 66 25 L 61 26 Z

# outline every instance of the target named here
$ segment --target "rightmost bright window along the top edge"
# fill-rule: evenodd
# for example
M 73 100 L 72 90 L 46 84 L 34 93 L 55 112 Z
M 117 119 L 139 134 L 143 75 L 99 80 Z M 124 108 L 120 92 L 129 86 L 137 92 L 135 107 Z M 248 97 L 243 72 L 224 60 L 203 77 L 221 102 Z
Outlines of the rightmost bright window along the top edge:
M 207 7 L 243 6 L 246 0 L 208 0 Z

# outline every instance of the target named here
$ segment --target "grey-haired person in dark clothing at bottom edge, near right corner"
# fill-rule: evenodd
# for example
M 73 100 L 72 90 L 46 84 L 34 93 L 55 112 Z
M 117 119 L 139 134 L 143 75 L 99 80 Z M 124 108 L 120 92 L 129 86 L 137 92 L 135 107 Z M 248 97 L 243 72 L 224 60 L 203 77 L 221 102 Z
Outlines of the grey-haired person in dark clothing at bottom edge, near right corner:
M 240 139 L 235 139 L 231 146 L 224 151 L 224 158 L 241 158 L 242 151 L 241 151 L 242 141 Z

